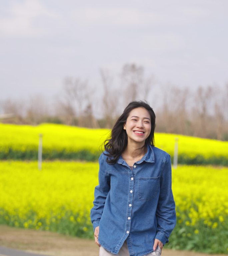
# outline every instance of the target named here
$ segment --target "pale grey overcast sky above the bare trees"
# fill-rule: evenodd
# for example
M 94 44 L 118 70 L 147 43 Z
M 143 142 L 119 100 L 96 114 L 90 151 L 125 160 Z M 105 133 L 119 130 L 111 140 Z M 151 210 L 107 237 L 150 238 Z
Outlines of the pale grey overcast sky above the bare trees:
M 0 100 L 136 63 L 160 83 L 228 82 L 228 1 L 0 0 Z

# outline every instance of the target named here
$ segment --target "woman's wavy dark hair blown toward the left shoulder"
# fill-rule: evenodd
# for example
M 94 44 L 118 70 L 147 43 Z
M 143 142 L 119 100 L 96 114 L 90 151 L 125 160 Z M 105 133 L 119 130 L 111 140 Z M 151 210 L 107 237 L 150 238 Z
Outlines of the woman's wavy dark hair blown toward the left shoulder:
M 104 148 L 106 151 L 104 154 L 107 156 L 106 162 L 108 164 L 115 164 L 119 156 L 125 150 L 128 139 L 126 130 L 123 129 L 123 126 L 126 123 L 131 110 L 139 107 L 145 108 L 150 113 L 151 131 L 150 135 L 145 140 L 145 145 L 151 144 L 154 146 L 155 114 L 153 109 L 146 101 L 131 101 L 114 124 L 110 137 L 104 141 Z

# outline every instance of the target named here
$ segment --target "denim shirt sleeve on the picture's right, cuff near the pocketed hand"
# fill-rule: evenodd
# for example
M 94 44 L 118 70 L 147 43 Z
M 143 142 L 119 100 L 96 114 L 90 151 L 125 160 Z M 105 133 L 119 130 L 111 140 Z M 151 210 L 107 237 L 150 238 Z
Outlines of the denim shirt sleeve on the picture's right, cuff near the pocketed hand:
M 155 238 L 163 245 L 176 225 L 175 202 L 172 193 L 172 170 L 170 155 L 167 154 L 160 177 L 160 195 L 156 210 L 157 231 Z

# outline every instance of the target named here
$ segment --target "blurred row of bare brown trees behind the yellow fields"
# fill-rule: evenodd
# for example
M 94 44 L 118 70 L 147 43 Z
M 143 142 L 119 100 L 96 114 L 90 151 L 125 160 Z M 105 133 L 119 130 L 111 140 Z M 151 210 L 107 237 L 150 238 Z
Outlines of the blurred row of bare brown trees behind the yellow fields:
M 28 101 L 0 102 L 2 123 L 57 123 L 89 128 L 111 128 L 132 100 L 147 100 L 156 114 L 156 132 L 228 140 L 228 84 L 198 86 L 194 90 L 160 84 L 136 64 L 123 66 L 120 75 L 100 70 L 100 85 L 66 77 L 53 104 L 44 95 Z

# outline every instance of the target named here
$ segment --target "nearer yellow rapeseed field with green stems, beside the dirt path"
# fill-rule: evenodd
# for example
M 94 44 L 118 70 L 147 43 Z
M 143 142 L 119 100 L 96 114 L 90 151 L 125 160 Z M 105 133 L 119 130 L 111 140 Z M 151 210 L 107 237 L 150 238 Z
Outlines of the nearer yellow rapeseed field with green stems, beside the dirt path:
M 89 213 L 98 163 L 0 162 L 0 223 L 93 237 Z M 173 170 L 177 226 L 168 247 L 228 251 L 228 168 Z

